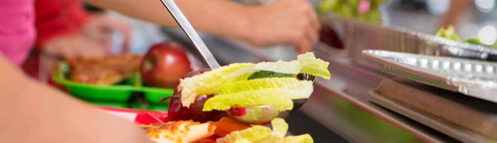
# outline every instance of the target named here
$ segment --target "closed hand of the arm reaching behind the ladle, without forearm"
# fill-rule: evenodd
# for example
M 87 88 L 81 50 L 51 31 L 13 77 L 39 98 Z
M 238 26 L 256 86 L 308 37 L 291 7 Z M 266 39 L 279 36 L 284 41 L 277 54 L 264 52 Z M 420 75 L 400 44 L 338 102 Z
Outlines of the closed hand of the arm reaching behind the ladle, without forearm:
M 277 0 L 250 13 L 253 33 L 247 41 L 254 46 L 291 44 L 305 53 L 319 40 L 321 25 L 306 0 Z

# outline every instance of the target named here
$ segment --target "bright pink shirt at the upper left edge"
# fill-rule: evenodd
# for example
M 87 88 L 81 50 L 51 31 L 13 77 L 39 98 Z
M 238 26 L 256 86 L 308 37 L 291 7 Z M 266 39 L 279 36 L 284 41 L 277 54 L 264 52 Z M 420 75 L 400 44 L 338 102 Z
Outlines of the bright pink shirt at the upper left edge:
M 20 66 L 33 47 L 33 0 L 0 0 L 0 52 Z

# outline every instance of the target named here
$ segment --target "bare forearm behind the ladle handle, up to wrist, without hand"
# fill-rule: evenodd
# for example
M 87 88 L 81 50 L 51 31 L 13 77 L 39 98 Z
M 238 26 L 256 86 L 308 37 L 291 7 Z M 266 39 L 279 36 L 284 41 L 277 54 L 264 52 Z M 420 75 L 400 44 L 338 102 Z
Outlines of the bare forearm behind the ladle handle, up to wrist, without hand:
M 83 1 L 166 27 L 179 27 L 160 0 Z M 250 6 L 231 0 L 175 0 L 175 2 L 196 30 L 242 40 L 247 40 L 250 35 L 248 19 Z

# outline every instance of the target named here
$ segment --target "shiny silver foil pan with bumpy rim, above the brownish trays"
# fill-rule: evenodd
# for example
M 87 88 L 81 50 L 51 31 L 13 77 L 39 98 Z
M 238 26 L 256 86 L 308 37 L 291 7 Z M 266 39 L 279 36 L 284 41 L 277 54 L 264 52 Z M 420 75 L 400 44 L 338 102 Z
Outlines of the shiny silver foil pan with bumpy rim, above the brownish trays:
M 381 71 L 438 88 L 497 102 L 497 63 L 385 50 L 363 50 Z

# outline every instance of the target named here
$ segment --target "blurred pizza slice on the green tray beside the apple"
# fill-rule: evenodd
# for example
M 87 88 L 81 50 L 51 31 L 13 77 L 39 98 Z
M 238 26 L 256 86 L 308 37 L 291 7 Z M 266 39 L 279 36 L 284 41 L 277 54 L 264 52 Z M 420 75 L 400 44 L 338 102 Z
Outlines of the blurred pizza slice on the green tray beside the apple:
M 112 85 L 139 71 L 143 56 L 132 54 L 106 57 L 73 56 L 68 58 L 70 79 L 94 85 Z

